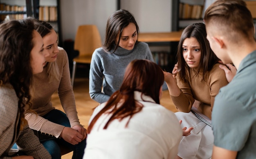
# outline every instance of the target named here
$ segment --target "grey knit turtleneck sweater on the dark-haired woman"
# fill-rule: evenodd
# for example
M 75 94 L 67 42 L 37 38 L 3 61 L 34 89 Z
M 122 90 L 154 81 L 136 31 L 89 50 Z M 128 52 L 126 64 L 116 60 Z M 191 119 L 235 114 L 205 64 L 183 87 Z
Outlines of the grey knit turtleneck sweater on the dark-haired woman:
M 91 98 L 99 103 L 108 101 L 110 96 L 119 90 L 126 66 L 135 59 L 154 61 L 148 44 L 139 42 L 132 50 L 118 47 L 112 54 L 102 47 L 96 49 L 92 54 L 90 65 L 89 93 Z

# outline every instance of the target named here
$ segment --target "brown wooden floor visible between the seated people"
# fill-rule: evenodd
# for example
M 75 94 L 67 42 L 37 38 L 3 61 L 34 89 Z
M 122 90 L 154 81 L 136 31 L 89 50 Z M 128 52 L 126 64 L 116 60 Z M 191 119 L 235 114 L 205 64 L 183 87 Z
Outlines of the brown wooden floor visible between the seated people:
M 96 101 L 93 101 L 89 96 L 89 79 L 88 78 L 76 78 L 74 81 L 74 95 L 76 99 L 76 110 L 78 112 L 79 121 L 85 128 L 88 127 L 88 121 L 93 112 L 93 108 L 99 105 Z M 52 95 L 52 104 L 58 110 L 62 110 L 58 94 Z M 176 112 L 176 108 L 171 101 L 168 90 L 163 91 L 160 104 L 166 107 L 168 110 Z M 72 152 L 63 155 L 61 159 L 71 159 Z

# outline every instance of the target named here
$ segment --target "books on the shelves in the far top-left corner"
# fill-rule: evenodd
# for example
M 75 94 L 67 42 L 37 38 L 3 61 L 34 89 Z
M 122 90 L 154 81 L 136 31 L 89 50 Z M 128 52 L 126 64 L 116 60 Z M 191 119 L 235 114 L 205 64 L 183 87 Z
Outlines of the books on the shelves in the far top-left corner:
M 0 3 L 0 11 L 26 11 L 27 8 L 25 6 L 18 6 L 18 5 L 9 5 L 5 3 Z M 0 15 L 0 20 L 5 20 L 8 14 Z M 9 19 L 23 19 L 27 17 L 27 14 L 9 14 Z

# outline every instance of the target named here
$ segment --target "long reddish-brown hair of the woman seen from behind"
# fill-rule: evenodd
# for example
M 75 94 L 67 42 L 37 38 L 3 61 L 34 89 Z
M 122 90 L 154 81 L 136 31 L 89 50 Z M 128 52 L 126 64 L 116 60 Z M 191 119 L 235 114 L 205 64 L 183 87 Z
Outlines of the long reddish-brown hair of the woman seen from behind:
M 143 105 L 134 99 L 134 91 L 139 91 L 146 96 L 150 96 L 155 103 L 159 104 L 159 90 L 164 83 L 162 69 L 150 60 L 133 60 L 126 67 L 124 81 L 120 90 L 116 91 L 107 101 L 105 107 L 92 119 L 88 133 L 93 125 L 104 113 L 112 114 L 103 129 L 108 128 L 111 121 L 124 119 L 130 116 L 126 126 L 132 116 L 142 110 Z M 141 99 L 142 99 L 141 94 Z M 144 101 L 144 99 L 142 99 Z

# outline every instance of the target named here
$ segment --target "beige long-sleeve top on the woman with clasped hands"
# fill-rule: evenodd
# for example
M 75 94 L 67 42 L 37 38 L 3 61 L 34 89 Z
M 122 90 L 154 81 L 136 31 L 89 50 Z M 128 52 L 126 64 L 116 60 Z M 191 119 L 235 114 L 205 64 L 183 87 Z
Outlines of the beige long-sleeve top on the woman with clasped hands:
M 61 47 L 58 47 L 58 49 L 59 53 L 56 62 L 60 71 L 59 81 L 48 82 L 46 67 L 43 69 L 43 72 L 34 75 L 35 89 L 33 99 L 31 100 L 31 110 L 34 110 L 38 115 L 31 112 L 26 112 L 25 114 L 25 119 L 27 119 L 31 129 L 53 134 L 56 138 L 59 137 L 64 126 L 48 121 L 41 116 L 55 109 L 51 99 L 52 94 L 57 90 L 61 105 L 67 114 L 71 127 L 81 125 L 77 116 L 75 97 L 70 81 L 67 53 Z

